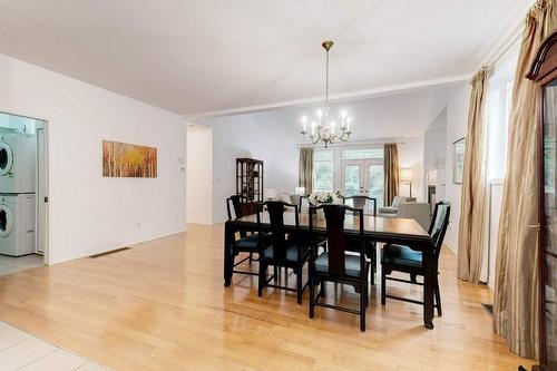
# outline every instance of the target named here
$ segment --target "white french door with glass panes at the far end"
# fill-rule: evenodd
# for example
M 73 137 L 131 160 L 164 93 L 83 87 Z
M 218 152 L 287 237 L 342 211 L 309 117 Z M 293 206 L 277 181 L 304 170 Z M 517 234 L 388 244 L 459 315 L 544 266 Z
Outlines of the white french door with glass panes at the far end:
M 342 194 L 375 198 L 383 206 L 383 162 L 377 159 L 345 159 L 342 162 Z M 371 209 L 372 205 L 370 205 Z M 369 209 L 367 209 L 369 212 Z

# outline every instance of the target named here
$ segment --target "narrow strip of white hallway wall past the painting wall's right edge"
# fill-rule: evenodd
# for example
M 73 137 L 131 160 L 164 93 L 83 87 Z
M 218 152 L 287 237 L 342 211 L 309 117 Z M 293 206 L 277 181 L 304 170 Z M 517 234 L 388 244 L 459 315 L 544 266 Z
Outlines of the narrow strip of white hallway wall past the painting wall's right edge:
M 186 222 L 213 223 L 213 129 L 187 127 Z

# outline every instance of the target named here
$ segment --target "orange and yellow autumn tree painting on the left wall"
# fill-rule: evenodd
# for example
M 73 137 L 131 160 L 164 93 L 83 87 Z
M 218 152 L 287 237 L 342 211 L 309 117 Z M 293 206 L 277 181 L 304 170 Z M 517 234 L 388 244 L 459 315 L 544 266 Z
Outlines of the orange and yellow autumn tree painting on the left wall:
M 102 176 L 157 177 L 157 148 L 102 140 Z

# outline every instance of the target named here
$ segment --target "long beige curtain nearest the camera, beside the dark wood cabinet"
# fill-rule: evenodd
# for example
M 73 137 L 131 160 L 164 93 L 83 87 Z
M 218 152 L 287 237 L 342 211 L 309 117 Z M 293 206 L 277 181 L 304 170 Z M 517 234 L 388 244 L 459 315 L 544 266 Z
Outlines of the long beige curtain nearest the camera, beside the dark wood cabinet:
M 526 79 L 541 41 L 557 27 L 557 0 L 528 12 L 512 89 L 507 175 L 499 219 L 494 330 L 510 350 L 538 358 L 538 134 L 537 87 Z

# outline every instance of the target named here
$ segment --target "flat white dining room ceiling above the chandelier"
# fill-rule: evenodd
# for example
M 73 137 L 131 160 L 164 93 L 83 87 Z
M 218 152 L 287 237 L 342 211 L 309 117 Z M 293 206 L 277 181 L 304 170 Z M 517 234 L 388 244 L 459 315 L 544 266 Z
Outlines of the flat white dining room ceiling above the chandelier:
M 531 0 L 0 0 L 0 52 L 178 114 L 461 77 Z

